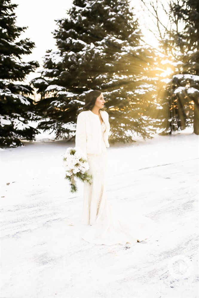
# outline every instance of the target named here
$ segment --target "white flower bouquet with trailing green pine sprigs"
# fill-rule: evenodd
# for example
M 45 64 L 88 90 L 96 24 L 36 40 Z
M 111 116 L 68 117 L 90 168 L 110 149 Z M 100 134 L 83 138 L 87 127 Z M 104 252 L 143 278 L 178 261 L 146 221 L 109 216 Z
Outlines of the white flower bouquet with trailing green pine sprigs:
M 92 184 L 92 175 L 89 175 L 86 171 L 89 169 L 89 164 L 85 158 L 83 151 L 79 147 L 69 147 L 63 155 L 63 167 L 66 170 L 65 179 L 70 181 L 71 193 L 77 191 L 77 185 L 75 178 L 86 181 L 90 185 Z

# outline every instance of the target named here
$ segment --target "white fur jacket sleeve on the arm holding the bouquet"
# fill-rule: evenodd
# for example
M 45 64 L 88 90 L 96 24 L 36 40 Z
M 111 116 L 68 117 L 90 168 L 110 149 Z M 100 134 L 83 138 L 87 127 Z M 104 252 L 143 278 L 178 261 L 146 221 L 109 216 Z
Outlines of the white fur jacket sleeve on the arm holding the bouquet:
M 87 142 L 87 134 L 86 134 L 86 123 L 83 112 L 81 112 L 77 116 L 77 126 L 76 126 L 76 134 L 75 134 L 75 147 L 80 147 L 87 157 L 86 151 L 86 142 Z

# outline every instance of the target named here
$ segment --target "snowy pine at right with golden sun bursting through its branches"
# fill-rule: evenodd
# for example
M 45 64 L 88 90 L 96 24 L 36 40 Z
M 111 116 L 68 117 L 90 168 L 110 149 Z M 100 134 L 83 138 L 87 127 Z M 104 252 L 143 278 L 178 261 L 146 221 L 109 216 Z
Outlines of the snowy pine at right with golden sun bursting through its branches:
M 170 73 L 158 82 L 157 102 L 162 106 L 161 134 L 180 131 L 194 122 L 198 134 L 198 4 L 194 0 L 170 1 L 168 12 L 171 30 L 160 40 L 159 65 Z M 180 30 L 180 21 L 183 29 Z

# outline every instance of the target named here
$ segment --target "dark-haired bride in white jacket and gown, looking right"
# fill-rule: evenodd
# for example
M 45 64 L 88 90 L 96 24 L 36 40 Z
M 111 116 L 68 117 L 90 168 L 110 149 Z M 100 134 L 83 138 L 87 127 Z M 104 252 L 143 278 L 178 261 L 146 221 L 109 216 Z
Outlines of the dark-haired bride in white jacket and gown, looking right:
M 154 234 L 155 226 L 150 218 L 129 210 L 122 217 L 108 204 L 106 148 L 110 124 L 104 104 L 102 92 L 92 90 L 86 94 L 84 110 L 77 117 L 75 146 L 84 152 L 90 166 L 88 174 L 93 176 L 91 185 L 84 182 L 81 223 L 90 227 L 82 238 L 106 245 L 137 243 Z

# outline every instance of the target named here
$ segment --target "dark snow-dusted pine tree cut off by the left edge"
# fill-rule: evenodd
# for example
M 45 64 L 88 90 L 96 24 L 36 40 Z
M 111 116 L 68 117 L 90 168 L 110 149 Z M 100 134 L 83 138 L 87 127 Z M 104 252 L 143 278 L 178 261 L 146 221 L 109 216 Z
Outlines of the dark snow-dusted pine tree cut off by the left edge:
M 0 1 L 1 148 L 21 146 L 22 139 L 33 140 L 37 133 L 28 125 L 28 120 L 36 119 L 32 112 L 33 100 L 30 99 L 33 89 L 23 84 L 23 80 L 39 64 L 22 61 L 22 55 L 30 54 L 34 43 L 28 38 L 20 39 L 21 32 L 27 27 L 16 26 L 16 7 L 10 0 Z

